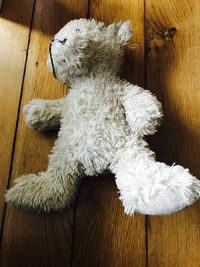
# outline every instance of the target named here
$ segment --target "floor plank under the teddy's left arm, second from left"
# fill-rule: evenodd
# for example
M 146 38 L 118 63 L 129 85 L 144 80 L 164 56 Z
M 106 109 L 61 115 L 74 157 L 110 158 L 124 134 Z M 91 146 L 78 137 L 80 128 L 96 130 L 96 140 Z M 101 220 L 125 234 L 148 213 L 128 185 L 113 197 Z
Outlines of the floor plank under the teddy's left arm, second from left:
M 33 98 L 54 99 L 67 88 L 46 68 L 52 34 L 68 20 L 84 17 L 87 1 L 36 1 L 21 110 Z M 55 134 L 27 129 L 20 110 L 16 148 L 11 174 L 13 180 L 24 173 L 36 173 L 47 166 Z M 73 232 L 73 207 L 57 214 L 37 214 L 8 207 L 1 243 L 0 266 L 69 266 Z

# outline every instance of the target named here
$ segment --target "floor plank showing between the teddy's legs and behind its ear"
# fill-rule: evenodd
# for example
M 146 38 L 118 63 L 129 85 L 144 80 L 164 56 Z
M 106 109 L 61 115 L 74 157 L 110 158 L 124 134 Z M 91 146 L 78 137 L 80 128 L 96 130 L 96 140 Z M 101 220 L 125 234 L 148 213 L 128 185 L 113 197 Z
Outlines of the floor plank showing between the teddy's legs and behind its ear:
M 136 49 L 127 51 L 123 76 L 143 85 L 143 1 L 91 1 L 90 16 L 106 23 L 131 19 Z M 114 177 L 86 179 L 79 191 L 73 266 L 145 266 L 145 217 L 125 216 Z

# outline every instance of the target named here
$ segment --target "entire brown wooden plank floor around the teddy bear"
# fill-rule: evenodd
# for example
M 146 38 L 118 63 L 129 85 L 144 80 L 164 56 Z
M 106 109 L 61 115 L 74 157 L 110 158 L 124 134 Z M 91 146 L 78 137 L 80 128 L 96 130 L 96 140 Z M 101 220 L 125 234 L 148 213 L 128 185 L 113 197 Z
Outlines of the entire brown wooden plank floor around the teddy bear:
M 54 33 L 73 18 L 130 19 L 123 77 L 162 101 L 165 120 L 149 138 L 158 159 L 200 177 L 199 0 L 4 0 L 0 16 L 1 267 L 198 267 L 200 203 L 166 217 L 128 217 L 111 175 L 88 178 L 59 214 L 7 207 L 14 179 L 47 166 L 56 133 L 27 129 L 22 108 L 67 89 L 45 61 Z

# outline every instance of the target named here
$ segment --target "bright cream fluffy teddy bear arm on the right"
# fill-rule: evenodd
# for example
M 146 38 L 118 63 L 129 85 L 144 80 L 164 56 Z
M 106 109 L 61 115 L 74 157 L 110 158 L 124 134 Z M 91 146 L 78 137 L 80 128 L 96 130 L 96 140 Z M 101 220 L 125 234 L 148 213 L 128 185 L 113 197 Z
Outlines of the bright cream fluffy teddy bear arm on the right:
M 156 132 L 162 118 L 162 106 L 148 90 L 129 85 L 122 93 L 122 105 L 132 132 L 141 136 Z

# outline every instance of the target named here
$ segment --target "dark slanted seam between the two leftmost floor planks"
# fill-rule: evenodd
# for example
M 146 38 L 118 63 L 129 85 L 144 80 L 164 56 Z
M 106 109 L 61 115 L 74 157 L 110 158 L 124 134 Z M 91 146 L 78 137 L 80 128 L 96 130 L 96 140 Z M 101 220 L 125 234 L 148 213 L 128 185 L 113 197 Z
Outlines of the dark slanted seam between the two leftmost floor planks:
M 13 158 L 14 158 L 14 153 L 15 153 L 16 137 L 17 137 L 17 131 L 18 131 L 18 122 L 19 122 L 21 101 L 22 101 L 22 95 L 23 95 L 24 79 L 25 79 L 26 66 L 27 66 L 27 61 L 28 61 L 28 53 L 29 53 L 29 46 L 30 46 L 30 40 L 31 40 L 31 31 L 32 31 L 32 26 L 33 26 L 33 17 L 34 17 L 34 13 L 35 13 L 35 5 L 36 5 L 36 0 L 34 0 L 34 2 L 33 2 L 33 9 L 32 9 L 32 14 L 31 14 L 30 29 L 29 29 L 29 35 L 28 35 L 26 56 L 25 56 L 25 61 L 24 61 L 24 70 L 23 70 L 23 77 L 22 77 L 22 83 L 21 83 L 21 91 L 20 91 L 20 97 L 19 97 L 19 103 L 18 103 L 17 118 L 16 118 L 16 124 L 15 124 L 15 132 L 14 132 L 14 138 L 13 138 L 13 146 L 12 146 L 11 159 L 10 159 L 10 168 L 9 168 L 9 175 L 8 175 L 8 181 L 7 181 L 6 189 L 9 188 L 10 180 L 11 180 Z M 4 210 L 3 210 L 3 216 L 2 216 L 2 225 L 1 225 L 1 229 L 0 229 L 0 242 L 2 241 L 2 236 L 3 236 L 6 210 L 7 210 L 7 204 L 5 203 Z

